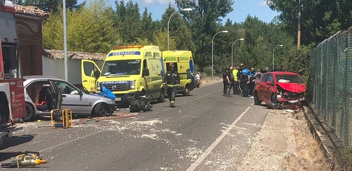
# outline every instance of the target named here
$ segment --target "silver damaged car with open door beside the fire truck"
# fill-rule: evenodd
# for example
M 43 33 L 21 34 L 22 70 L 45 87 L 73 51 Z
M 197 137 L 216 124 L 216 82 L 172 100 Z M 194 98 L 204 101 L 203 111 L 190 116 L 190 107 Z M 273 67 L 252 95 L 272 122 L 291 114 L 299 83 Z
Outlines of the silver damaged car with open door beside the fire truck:
M 23 80 L 27 113 L 24 121 L 34 116 L 50 116 L 50 111 L 56 108 L 90 116 L 112 114 L 116 109 L 114 100 L 80 90 L 61 78 L 39 75 L 24 76 Z

